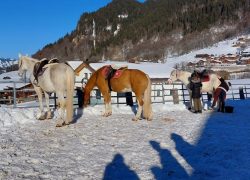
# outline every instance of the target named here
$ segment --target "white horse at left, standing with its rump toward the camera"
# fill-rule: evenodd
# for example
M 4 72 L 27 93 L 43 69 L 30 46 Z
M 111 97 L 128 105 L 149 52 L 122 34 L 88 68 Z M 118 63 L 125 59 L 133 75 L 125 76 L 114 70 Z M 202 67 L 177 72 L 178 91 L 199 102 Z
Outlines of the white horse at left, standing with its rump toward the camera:
M 38 76 L 38 82 L 35 82 L 33 69 L 35 64 L 39 62 L 27 56 L 19 55 L 19 72 L 20 76 L 23 75 L 25 70 L 29 71 L 30 81 L 38 95 L 40 112 L 37 119 L 51 119 L 51 110 L 49 108 L 49 93 L 56 93 L 58 96 L 59 119 L 57 120 L 57 127 L 70 124 L 73 118 L 73 93 L 74 93 L 74 71 L 65 63 L 52 63 L 44 67 L 44 72 Z M 47 110 L 44 112 L 42 93 L 44 92 Z M 66 100 L 64 98 L 66 95 Z M 66 108 L 66 120 L 64 117 Z

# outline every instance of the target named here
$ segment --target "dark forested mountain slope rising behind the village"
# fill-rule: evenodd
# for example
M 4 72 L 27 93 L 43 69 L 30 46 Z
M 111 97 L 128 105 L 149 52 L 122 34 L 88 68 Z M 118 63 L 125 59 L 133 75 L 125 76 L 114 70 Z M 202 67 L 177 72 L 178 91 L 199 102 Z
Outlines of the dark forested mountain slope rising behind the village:
M 249 30 L 249 0 L 113 0 L 36 58 L 158 60 Z

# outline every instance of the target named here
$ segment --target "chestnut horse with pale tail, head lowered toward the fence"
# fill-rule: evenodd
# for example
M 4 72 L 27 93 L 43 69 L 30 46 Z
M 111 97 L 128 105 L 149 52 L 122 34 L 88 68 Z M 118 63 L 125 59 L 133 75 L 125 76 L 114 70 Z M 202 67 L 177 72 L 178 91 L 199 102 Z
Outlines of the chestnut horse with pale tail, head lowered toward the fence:
M 108 80 L 103 72 L 110 66 L 103 66 L 95 71 L 88 80 L 84 89 L 84 106 L 90 103 L 90 92 L 97 86 L 104 97 L 105 112 L 103 116 L 112 114 L 110 91 L 131 92 L 136 95 L 138 110 L 133 118 L 134 121 L 143 116 L 147 120 L 152 120 L 153 112 L 151 106 L 151 81 L 147 74 L 137 69 L 123 69 L 118 78 Z

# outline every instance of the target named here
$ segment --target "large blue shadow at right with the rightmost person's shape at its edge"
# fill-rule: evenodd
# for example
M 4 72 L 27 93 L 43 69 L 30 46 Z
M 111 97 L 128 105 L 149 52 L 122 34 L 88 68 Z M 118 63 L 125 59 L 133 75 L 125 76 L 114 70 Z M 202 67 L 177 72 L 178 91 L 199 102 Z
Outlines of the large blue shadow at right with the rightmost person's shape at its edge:
M 171 134 L 176 151 L 193 168 L 190 179 L 250 177 L 250 128 L 249 120 L 244 118 L 249 113 L 244 111 L 246 108 L 241 108 L 244 104 L 240 101 L 228 100 L 227 104 L 233 104 L 235 112 L 211 114 L 196 144 L 190 144 L 178 134 Z

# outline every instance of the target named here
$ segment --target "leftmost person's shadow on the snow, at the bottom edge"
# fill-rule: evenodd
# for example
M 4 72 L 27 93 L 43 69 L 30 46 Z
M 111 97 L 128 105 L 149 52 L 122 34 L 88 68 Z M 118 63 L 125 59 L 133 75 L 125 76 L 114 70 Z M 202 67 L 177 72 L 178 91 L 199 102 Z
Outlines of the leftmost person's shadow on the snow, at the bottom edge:
M 111 163 L 109 163 L 104 172 L 103 180 L 137 180 L 138 175 L 131 170 L 125 163 L 121 154 L 116 154 Z

